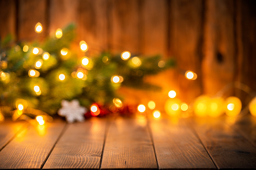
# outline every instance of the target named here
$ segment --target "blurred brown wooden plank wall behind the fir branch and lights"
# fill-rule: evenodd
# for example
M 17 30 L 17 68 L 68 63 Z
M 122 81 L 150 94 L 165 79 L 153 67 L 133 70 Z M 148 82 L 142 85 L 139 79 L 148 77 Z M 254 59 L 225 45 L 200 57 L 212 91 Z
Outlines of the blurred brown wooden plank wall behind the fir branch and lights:
M 86 41 L 91 51 L 176 58 L 179 69 L 148 81 L 165 79 L 162 93 L 175 89 L 186 102 L 214 95 L 233 81 L 256 90 L 253 0 L 0 0 L 1 37 L 38 38 L 37 22 L 43 36 L 75 23 L 77 40 Z M 181 69 L 196 72 L 198 79 L 185 79 Z M 240 90 L 229 95 L 248 99 Z

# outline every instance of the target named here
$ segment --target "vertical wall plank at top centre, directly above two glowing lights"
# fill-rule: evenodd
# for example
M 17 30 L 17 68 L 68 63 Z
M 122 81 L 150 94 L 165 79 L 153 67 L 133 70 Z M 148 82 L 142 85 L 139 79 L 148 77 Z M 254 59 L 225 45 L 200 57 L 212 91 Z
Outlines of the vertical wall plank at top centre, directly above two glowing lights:
M 113 53 L 140 52 L 139 1 L 113 0 L 110 3 L 110 34 Z

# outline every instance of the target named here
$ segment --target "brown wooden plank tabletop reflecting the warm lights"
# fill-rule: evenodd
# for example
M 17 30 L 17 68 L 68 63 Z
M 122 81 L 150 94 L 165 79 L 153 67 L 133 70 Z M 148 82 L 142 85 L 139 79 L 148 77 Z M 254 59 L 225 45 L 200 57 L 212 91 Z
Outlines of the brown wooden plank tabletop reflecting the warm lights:
M 0 123 L 2 169 L 256 168 L 256 118 Z

